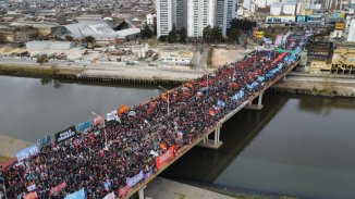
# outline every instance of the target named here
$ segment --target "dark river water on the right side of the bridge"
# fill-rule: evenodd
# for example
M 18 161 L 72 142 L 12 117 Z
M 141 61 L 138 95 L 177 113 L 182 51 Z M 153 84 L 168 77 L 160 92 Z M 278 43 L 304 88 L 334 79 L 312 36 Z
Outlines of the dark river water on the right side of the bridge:
M 267 95 L 261 112 L 242 111 L 223 125 L 220 150 L 194 148 L 163 176 L 299 197 L 354 198 L 355 103 L 330 99 Z M 327 108 L 313 111 L 303 105 L 309 101 Z

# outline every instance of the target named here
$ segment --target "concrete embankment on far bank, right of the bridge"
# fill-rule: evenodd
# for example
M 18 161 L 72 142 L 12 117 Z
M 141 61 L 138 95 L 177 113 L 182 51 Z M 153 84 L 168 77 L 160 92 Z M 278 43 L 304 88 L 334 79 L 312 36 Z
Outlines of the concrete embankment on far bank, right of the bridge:
M 271 91 L 330 97 L 355 97 L 355 77 L 290 74 L 285 82 L 279 82 Z

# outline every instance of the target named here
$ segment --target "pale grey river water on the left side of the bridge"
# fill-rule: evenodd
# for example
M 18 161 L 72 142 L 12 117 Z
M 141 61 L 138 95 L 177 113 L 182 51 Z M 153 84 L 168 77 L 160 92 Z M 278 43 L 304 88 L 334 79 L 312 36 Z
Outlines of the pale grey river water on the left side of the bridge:
M 155 97 L 159 89 L 133 85 L 77 85 L 65 82 L 0 76 L 1 134 L 36 141 L 126 103 Z

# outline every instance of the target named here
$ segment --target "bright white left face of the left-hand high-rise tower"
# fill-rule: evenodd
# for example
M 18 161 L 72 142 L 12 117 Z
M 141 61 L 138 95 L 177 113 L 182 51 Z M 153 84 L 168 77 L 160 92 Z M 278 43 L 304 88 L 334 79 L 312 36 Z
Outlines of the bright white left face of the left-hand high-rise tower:
M 157 0 L 157 38 L 168 36 L 173 26 L 173 1 Z

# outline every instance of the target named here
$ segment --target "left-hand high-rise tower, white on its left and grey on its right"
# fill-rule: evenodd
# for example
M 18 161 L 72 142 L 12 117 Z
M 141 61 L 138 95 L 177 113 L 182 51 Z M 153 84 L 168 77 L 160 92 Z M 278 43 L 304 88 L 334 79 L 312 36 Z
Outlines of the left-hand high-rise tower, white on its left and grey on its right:
M 157 0 L 157 37 L 187 26 L 187 0 Z

